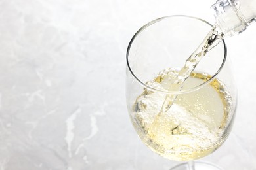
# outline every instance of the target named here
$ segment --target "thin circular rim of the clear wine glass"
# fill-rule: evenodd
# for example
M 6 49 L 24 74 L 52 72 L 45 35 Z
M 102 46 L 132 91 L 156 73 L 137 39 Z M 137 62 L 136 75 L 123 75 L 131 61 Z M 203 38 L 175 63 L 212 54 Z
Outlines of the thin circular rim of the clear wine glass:
M 129 42 L 129 45 L 127 47 L 127 52 L 126 52 L 126 63 L 127 63 L 127 67 L 131 73 L 131 75 L 133 76 L 133 78 L 135 78 L 135 80 L 137 80 L 137 82 L 139 82 L 140 85 L 144 86 L 144 88 L 147 88 L 148 90 L 154 91 L 154 92 L 159 92 L 159 93 L 165 93 L 165 94 L 182 94 L 182 93 L 189 93 L 189 92 L 194 92 L 200 88 L 203 88 L 203 86 L 206 86 L 207 84 L 209 84 L 210 82 L 212 82 L 212 80 L 214 80 L 214 78 L 219 75 L 219 73 L 221 72 L 221 69 L 224 66 L 224 63 L 226 62 L 226 57 L 227 57 L 227 48 L 226 48 L 226 43 L 224 42 L 224 39 L 221 41 L 223 42 L 223 46 L 224 46 L 224 57 L 223 57 L 223 62 L 221 63 L 221 66 L 219 67 L 219 69 L 217 70 L 217 72 L 211 76 L 211 78 L 209 78 L 209 80 L 206 80 L 205 82 L 203 82 L 202 84 L 199 84 L 198 86 L 195 86 L 193 88 L 189 88 L 186 90 L 176 90 L 176 91 L 170 91 L 170 90 L 160 90 L 160 89 L 156 89 L 153 88 L 152 86 L 148 86 L 147 84 L 145 84 L 144 82 L 142 82 L 136 75 L 135 73 L 133 73 L 133 70 L 131 69 L 130 65 L 129 65 L 129 52 L 130 52 L 130 48 L 131 45 L 133 44 L 133 41 L 135 40 L 135 38 L 147 27 L 149 27 L 152 24 L 155 24 L 157 22 L 160 22 L 161 20 L 165 20 L 167 18 L 173 18 L 173 17 L 184 17 L 184 18 L 190 18 L 190 19 L 196 19 L 196 20 L 200 20 L 202 22 L 204 22 L 205 24 L 209 25 L 210 27 L 213 27 L 212 24 L 210 24 L 209 22 L 201 19 L 201 18 L 197 18 L 194 16 L 187 16 L 187 15 L 171 15 L 171 16 L 163 16 L 161 18 L 157 18 L 155 20 L 152 20 L 151 22 L 148 22 L 148 24 L 143 25 L 142 27 L 140 27 L 140 29 L 135 33 L 135 35 L 133 35 L 133 37 L 131 38 L 131 41 Z M 165 69 L 165 68 L 163 68 Z

